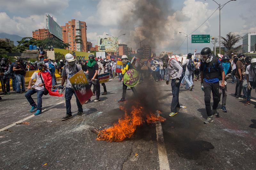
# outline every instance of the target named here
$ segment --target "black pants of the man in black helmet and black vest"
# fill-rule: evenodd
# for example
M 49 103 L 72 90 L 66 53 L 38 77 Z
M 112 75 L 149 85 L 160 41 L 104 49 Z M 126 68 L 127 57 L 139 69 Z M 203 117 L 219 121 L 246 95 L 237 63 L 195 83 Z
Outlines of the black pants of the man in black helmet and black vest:
M 207 83 L 204 81 L 204 103 L 205 109 L 208 116 L 212 116 L 211 111 L 211 92 L 213 97 L 213 106 L 212 109 L 217 109 L 218 104 L 220 102 L 220 95 L 219 95 L 219 82 L 216 83 Z

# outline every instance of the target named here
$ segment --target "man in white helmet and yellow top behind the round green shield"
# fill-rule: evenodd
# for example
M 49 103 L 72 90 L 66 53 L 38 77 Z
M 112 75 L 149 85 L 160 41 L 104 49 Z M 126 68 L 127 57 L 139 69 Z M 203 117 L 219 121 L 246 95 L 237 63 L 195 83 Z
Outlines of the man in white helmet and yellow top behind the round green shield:
M 123 67 L 122 67 L 121 71 L 122 71 L 122 76 L 124 76 L 125 71 L 127 71 L 128 69 L 131 69 L 133 67 L 132 67 L 132 64 L 130 62 L 128 62 L 127 55 L 122 55 L 122 62 L 123 62 Z M 136 95 L 137 91 L 135 90 L 135 88 L 131 87 L 131 89 L 132 89 L 132 92 Z M 127 85 L 125 85 L 123 82 L 123 94 L 122 94 L 122 98 L 118 102 L 125 101 L 126 90 L 127 90 Z

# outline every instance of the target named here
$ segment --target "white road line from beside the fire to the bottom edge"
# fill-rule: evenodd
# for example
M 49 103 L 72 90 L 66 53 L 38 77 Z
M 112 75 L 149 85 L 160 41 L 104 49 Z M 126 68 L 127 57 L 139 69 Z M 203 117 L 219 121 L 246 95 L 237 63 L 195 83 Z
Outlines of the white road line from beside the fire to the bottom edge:
M 163 136 L 161 122 L 156 123 L 156 139 L 157 139 L 157 149 L 158 149 L 158 158 L 159 158 L 159 169 L 168 170 L 170 169 L 170 166 L 169 166 L 166 148 L 164 146 L 164 136 Z

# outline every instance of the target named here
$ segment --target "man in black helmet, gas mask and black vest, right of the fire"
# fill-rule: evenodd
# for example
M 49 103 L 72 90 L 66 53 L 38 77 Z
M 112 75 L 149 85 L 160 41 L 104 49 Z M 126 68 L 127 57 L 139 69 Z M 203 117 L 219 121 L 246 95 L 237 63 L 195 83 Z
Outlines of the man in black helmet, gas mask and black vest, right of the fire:
M 212 50 L 209 47 L 205 47 L 201 51 L 201 88 L 204 91 L 204 103 L 207 113 L 207 119 L 205 124 L 212 122 L 213 115 L 218 116 L 217 107 L 220 102 L 219 86 L 224 87 L 225 72 L 220 60 L 212 54 Z M 219 85 L 219 77 L 221 73 L 221 84 Z M 213 106 L 211 111 L 211 92 L 213 96 Z

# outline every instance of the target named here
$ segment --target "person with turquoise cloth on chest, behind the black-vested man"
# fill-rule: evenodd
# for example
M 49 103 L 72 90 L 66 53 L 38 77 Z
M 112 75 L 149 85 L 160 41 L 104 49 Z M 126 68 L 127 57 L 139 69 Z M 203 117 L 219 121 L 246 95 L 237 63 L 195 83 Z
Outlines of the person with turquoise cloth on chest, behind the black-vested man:
M 221 65 L 223 67 L 223 70 L 225 72 L 225 81 L 227 81 L 226 76 L 231 72 L 232 70 L 232 66 L 231 63 L 229 62 L 229 57 L 228 55 L 223 55 L 221 58 Z M 221 79 L 220 79 L 221 80 Z M 225 85 L 225 84 L 224 84 Z M 226 108 L 226 101 L 227 101 L 227 96 L 228 96 L 228 90 L 227 90 L 227 85 L 223 87 L 219 88 L 219 93 L 220 96 L 222 94 L 222 105 L 221 105 L 221 110 L 223 112 L 227 112 L 227 108 Z

